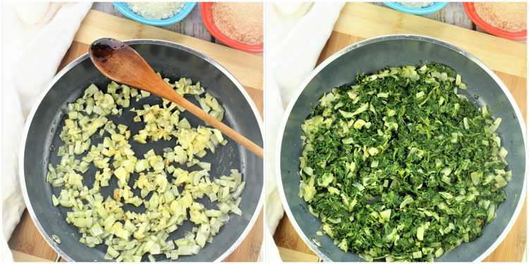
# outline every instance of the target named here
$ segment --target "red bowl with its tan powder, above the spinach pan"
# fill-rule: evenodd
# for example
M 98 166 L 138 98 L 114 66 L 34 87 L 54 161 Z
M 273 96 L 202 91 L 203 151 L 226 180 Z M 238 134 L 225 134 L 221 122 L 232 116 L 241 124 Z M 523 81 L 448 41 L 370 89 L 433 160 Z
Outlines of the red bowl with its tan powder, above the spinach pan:
M 485 32 L 506 39 L 527 39 L 525 2 L 466 2 L 463 7 L 470 20 Z

